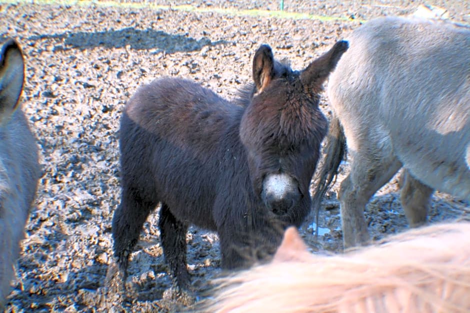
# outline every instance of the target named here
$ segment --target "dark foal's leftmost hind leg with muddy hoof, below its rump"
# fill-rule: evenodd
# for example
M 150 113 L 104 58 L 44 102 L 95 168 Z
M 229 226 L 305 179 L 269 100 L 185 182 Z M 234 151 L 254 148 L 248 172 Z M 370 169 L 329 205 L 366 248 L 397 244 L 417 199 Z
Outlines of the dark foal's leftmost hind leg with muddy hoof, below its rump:
M 144 201 L 137 192 L 123 188 L 121 203 L 114 212 L 111 225 L 114 258 L 118 268 L 108 269 L 107 285 L 121 284 L 123 288 L 129 255 L 138 241 L 143 223 L 156 204 L 157 202 Z

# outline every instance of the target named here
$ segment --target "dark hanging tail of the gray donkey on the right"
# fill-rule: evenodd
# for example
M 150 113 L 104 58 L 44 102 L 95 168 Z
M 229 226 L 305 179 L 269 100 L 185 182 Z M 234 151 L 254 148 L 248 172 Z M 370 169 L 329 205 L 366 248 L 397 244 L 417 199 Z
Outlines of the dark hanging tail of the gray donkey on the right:
M 318 237 L 318 214 L 321 199 L 329 187 L 336 181 L 339 164 L 346 156 L 346 137 L 338 118 L 332 114 L 329 131 L 323 149 L 323 162 L 317 171 L 316 187 L 313 194 L 311 209 L 315 212 L 315 237 Z

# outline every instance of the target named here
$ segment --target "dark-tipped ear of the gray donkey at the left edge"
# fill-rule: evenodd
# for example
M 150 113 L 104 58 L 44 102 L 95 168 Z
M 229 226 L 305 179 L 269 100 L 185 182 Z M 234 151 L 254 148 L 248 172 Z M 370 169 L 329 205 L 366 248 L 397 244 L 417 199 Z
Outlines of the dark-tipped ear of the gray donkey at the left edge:
M 24 63 L 18 44 L 7 40 L 0 52 L 0 121 L 16 108 L 23 88 Z

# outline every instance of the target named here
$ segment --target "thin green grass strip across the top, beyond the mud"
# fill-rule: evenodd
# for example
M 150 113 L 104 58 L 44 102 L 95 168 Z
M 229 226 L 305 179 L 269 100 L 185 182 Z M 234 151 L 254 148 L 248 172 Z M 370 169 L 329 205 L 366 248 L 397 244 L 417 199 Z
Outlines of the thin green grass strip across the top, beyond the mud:
M 199 12 L 199 13 L 218 13 L 222 15 L 231 16 L 272 16 L 285 19 L 316 19 L 321 21 L 334 21 L 334 20 L 351 20 L 346 17 L 340 16 L 324 16 L 312 15 L 308 13 L 286 12 L 280 10 L 262 10 L 262 9 L 235 9 L 235 8 L 219 8 L 219 7 L 195 7 L 192 5 L 157 5 L 145 2 L 118 2 L 118 1 L 95 1 L 95 0 L 0 0 L 0 3 L 5 4 L 61 4 L 71 6 L 98 6 L 98 7 L 127 7 L 135 9 L 150 8 L 154 10 L 177 10 L 186 12 Z

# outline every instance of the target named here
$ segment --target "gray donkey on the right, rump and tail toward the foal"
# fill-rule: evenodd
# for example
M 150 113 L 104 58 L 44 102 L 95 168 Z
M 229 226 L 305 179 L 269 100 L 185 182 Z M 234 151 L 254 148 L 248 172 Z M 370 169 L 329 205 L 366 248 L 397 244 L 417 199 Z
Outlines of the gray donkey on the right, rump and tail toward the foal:
M 345 155 L 338 198 L 344 246 L 369 240 L 372 195 L 404 167 L 401 203 L 411 227 L 426 222 L 434 189 L 470 200 L 470 28 L 385 17 L 347 38 L 331 74 L 333 111 L 317 204 Z

